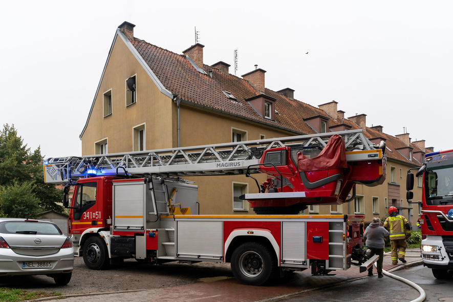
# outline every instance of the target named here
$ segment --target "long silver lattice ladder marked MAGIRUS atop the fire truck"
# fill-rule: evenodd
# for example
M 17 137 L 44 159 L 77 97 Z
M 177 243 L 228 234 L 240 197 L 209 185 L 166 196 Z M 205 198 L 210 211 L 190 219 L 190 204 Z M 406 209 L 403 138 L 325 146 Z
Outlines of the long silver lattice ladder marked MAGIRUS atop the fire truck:
M 382 146 L 370 142 L 362 130 L 291 136 L 215 145 L 202 145 L 141 152 L 49 158 L 44 161 L 45 182 L 69 183 L 79 178 L 102 175 L 151 174 L 162 177 L 244 174 L 258 172 L 263 152 L 290 146 L 322 150 L 329 138 L 343 137 L 348 161 L 382 158 Z

